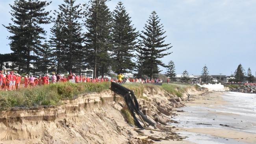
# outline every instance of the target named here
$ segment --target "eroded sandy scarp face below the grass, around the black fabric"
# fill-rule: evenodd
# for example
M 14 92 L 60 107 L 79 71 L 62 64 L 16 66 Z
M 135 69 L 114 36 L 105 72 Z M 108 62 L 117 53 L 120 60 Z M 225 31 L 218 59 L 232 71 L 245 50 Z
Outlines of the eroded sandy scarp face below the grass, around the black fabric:
M 189 92 L 198 91 L 190 88 Z M 121 113 L 125 102 L 110 90 L 104 90 L 81 94 L 59 106 L 12 108 L 0 112 L 0 143 L 136 144 L 182 139 L 172 132 L 171 126 L 166 126 L 171 121 L 171 111 L 183 106 L 182 98 L 158 87 L 145 88 L 143 96 L 147 98 L 138 99 L 140 108 L 156 127 L 138 129 L 128 124 Z

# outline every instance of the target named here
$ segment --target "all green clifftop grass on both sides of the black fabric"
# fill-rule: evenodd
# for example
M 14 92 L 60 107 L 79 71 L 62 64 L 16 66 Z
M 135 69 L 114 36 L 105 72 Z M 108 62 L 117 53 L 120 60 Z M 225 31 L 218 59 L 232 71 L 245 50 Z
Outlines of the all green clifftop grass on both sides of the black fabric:
M 156 92 L 158 90 L 166 90 L 167 92 L 179 96 L 186 92 L 189 84 L 170 83 L 163 85 L 154 85 L 150 83 L 125 83 L 124 87 L 134 90 L 137 98 L 148 100 L 143 96 L 144 89 Z M 109 82 L 105 83 L 56 83 L 50 85 L 42 85 L 32 89 L 19 89 L 14 91 L 0 91 L 0 111 L 8 110 L 10 107 L 33 107 L 39 105 L 61 105 L 62 100 L 73 100 L 79 94 L 88 92 L 101 92 L 110 87 Z M 239 87 L 238 85 L 230 85 L 230 87 Z M 115 98 L 114 98 L 115 99 Z M 100 98 L 104 103 L 104 99 Z M 95 104 L 98 102 L 95 102 Z

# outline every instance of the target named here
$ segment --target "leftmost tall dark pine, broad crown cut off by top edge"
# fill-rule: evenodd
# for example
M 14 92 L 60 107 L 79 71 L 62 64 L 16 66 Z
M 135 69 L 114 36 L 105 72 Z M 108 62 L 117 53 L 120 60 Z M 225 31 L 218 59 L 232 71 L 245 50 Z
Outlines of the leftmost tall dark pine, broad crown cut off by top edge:
M 31 61 L 35 61 L 38 49 L 41 47 L 41 40 L 45 39 L 43 35 L 46 31 L 41 28 L 41 24 L 49 24 L 50 17 L 45 7 L 51 2 L 40 0 L 15 0 L 13 5 L 10 5 L 13 24 L 4 26 L 13 35 L 9 37 L 11 40 L 10 47 L 15 57 L 19 57 L 16 65 L 19 66 L 19 71 L 30 73 Z

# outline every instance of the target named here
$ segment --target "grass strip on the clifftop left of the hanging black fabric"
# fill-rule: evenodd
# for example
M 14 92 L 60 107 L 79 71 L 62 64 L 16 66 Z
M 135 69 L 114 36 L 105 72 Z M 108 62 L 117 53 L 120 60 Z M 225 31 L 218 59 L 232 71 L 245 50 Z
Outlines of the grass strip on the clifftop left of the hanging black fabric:
M 55 83 L 32 89 L 0 91 L 0 110 L 10 107 L 33 107 L 39 105 L 60 105 L 62 100 L 73 100 L 78 94 L 100 92 L 110 87 L 105 83 Z

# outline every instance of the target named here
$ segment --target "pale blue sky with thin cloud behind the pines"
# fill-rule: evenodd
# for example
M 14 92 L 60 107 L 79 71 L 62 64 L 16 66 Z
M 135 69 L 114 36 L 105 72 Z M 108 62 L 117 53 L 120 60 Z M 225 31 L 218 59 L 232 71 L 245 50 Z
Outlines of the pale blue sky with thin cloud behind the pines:
M 173 53 L 161 60 L 174 61 L 177 74 L 187 70 L 200 75 L 206 65 L 211 75 L 230 75 L 240 63 L 256 73 L 256 0 L 111 0 L 109 9 L 113 11 L 119 1 L 138 31 L 156 11 L 166 31 L 165 42 L 173 46 L 169 50 Z M 86 2 L 76 0 L 76 4 Z M 46 9 L 53 11 L 62 3 L 52 0 Z M 0 54 L 11 52 L 7 39 L 11 34 L 2 26 L 11 23 L 9 4 L 13 0 L 0 0 Z M 47 37 L 51 26 L 42 25 Z M 161 70 L 164 73 L 166 68 Z

